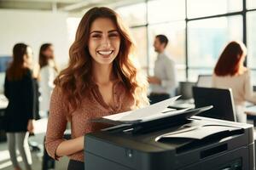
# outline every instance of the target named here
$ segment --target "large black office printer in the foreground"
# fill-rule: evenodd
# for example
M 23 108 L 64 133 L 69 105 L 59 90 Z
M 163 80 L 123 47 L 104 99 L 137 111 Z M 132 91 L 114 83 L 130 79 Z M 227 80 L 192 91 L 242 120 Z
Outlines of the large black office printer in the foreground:
M 253 126 L 197 113 L 86 134 L 85 170 L 253 170 Z

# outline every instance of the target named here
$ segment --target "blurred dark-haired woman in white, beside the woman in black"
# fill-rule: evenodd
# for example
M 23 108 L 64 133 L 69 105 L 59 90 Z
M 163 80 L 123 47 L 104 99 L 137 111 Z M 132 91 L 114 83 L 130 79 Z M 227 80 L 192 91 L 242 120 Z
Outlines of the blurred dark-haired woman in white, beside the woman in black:
M 54 80 L 58 69 L 55 64 L 54 47 L 51 43 L 44 43 L 39 51 L 39 88 L 40 88 L 40 105 L 39 110 L 44 115 L 49 114 L 50 94 L 55 87 Z

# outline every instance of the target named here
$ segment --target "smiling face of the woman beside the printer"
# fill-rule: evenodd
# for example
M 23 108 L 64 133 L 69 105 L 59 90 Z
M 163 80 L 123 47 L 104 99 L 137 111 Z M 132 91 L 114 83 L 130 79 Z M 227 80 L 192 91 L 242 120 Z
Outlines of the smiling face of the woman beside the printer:
M 112 20 L 98 18 L 92 22 L 88 47 L 94 63 L 110 65 L 113 62 L 119 54 L 120 36 Z

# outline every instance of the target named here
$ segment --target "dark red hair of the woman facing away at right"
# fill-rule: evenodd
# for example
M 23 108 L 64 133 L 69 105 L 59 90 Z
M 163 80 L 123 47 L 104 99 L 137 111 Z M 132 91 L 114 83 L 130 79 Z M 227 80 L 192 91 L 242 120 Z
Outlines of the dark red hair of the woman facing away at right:
M 224 48 L 218 62 L 214 68 L 217 76 L 234 76 L 240 71 L 240 61 L 243 55 L 247 53 L 247 48 L 242 42 L 229 42 Z

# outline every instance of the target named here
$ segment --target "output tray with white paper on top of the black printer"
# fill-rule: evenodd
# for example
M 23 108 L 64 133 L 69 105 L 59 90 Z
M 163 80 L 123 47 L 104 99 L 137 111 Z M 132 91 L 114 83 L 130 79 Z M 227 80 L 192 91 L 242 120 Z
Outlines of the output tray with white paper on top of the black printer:
M 186 150 L 193 150 L 206 144 L 221 142 L 226 138 L 235 138 L 244 133 L 243 129 L 238 127 L 205 125 L 197 128 L 184 129 L 175 133 L 166 133 L 160 135 L 155 140 L 165 144 L 177 145 L 177 154 Z

